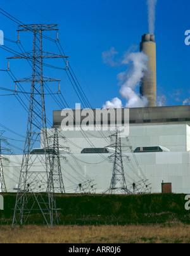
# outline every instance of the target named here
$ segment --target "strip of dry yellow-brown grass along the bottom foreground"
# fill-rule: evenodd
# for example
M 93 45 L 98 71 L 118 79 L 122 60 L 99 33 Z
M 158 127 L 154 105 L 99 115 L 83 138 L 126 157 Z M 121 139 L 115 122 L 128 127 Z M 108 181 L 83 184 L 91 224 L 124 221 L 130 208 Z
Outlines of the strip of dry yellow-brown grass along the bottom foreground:
M 190 225 L 0 226 L 0 243 L 190 243 Z

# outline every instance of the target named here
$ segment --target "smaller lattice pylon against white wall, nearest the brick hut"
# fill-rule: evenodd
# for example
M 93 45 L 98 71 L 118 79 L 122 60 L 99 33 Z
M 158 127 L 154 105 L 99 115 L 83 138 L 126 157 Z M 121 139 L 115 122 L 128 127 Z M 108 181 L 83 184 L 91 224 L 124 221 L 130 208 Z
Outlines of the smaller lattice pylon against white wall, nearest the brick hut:
M 111 135 L 111 137 L 115 137 L 115 143 L 109 145 L 109 148 L 115 148 L 115 153 L 110 157 L 114 158 L 113 163 L 113 172 L 111 177 L 110 188 L 108 189 L 108 193 L 110 194 L 132 194 L 129 189 L 127 189 L 127 184 L 125 181 L 124 174 L 124 164 L 122 159 L 122 144 L 120 138 L 120 131 L 117 128 L 116 133 Z

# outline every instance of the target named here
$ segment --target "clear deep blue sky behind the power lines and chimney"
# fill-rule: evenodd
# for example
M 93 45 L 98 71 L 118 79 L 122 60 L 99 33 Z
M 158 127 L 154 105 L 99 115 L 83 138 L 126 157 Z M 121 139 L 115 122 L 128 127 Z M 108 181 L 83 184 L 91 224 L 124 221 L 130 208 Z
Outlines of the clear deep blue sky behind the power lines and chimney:
M 148 6 L 146 0 L 0 0 L 1 8 L 20 22 L 58 24 L 59 40 L 72 69 L 93 108 L 101 108 L 112 98 L 120 97 L 117 75 L 127 69 L 121 61 L 126 51 L 139 51 L 141 35 L 148 33 Z M 157 67 L 157 95 L 165 99 L 164 105 L 189 105 L 190 96 L 190 46 L 184 44 L 185 31 L 190 29 L 189 0 L 158 0 L 156 4 L 155 41 Z M 0 30 L 4 37 L 17 40 L 18 25 L 0 13 Z M 56 39 L 56 33 L 46 32 Z M 20 32 L 20 41 L 26 51 L 32 50 L 32 34 Z M 4 41 L 4 45 L 20 52 L 18 45 Z M 54 42 L 44 40 L 44 51 L 58 53 Z M 114 49 L 115 61 L 120 65 L 111 67 L 104 63 L 102 54 Z M 0 48 L 0 69 L 7 68 L 7 57 L 14 54 Z M 63 67 L 61 60 L 46 63 Z M 32 74 L 25 60 L 10 60 L 11 72 L 16 79 Z M 61 92 L 70 108 L 80 103 L 65 71 L 44 68 L 44 75 L 60 79 Z M 15 89 L 7 72 L 0 72 L 0 87 Z M 29 84 L 23 84 L 30 91 Z M 49 84 L 58 91 L 58 84 Z M 138 90 L 138 88 L 137 88 Z M 0 91 L 1 94 L 7 94 Z M 185 101 L 186 100 L 186 101 Z M 125 100 L 122 99 L 125 105 Z M 53 110 L 60 106 L 46 96 L 46 114 L 52 122 Z M 25 137 L 27 112 L 15 96 L 0 96 L 0 124 Z M 0 130 L 3 127 L 0 127 Z M 11 144 L 23 148 L 24 138 L 6 130 L 4 136 Z M 18 139 L 18 141 L 13 141 Z M 16 153 L 22 151 L 15 148 Z

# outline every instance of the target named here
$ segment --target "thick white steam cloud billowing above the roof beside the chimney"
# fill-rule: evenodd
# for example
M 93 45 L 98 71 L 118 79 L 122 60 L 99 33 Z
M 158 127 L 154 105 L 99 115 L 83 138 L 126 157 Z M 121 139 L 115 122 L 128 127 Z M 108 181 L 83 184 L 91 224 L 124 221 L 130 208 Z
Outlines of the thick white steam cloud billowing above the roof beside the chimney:
M 148 105 L 148 99 L 141 97 L 136 93 L 136 88 L 143 78 L 144 71 L 148 70 L 147 63 L 149 57 L 142 51 L 137 53 L 125 53 L 123 64 L 128 65 L 125 72 L 117 75 L 120 81 L 120 96 L 126 100 L 125 108 L 145 107 Z M 113 98 L 111 101 L 106 101 L 103 108 L 122 108 L 122 101 L 118 98 Z

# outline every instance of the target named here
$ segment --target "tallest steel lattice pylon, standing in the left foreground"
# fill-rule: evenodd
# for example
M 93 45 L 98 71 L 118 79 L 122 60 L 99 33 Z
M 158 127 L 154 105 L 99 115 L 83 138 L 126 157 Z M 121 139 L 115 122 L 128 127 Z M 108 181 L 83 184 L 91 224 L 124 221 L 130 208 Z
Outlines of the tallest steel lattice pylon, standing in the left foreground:
M 31 91 L 27 135 L 23 150 L 12 227 L 16 224 L 23 226 L 33 210 L 41 212 L 47 226 L 53 227 L 53 224 L 58 223 L 53 173 L 47 139 L 44 82 L 60 80 L 44 77 L 43 60 L 45 58 L 66 58 L 66 56 L 42 50 L 42 32 L 50 30 L 58 30 L 57 25 L 33 24 L 18 26 L 17 31 L 19 32 L 30 31 L 33 33 L 33 51 L 8 58 L 32 61 L 32 76 L 15 81 L 30 82 Z M 43 153 L 41 155 L 31 154 L 35 144 L 39 141 L 41 141 Z M 39 163 L 41 163 L 42 167 L 39 167 Z

